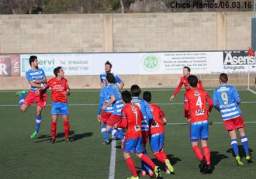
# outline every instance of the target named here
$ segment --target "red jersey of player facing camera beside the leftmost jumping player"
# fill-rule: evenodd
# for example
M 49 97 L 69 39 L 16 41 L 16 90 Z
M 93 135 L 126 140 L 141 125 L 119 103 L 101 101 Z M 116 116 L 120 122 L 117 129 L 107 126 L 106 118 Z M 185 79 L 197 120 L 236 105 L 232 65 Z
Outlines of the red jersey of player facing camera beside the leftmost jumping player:
M 51 88 L 51 99 L 54 102 L 67 102 L 66 91 L 69 89 L 67 80 L 62 78 L 61 81 L 56 77 L 48 81 L 46 88 Z

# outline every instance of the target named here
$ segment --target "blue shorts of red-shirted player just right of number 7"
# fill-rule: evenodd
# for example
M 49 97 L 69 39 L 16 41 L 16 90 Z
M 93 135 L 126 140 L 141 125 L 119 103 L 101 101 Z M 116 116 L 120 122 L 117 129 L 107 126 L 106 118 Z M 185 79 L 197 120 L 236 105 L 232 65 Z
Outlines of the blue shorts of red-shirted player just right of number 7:
M 155 133 L 149 137 L 152 152 L 161 150 L 164 146 L 164 133 Z

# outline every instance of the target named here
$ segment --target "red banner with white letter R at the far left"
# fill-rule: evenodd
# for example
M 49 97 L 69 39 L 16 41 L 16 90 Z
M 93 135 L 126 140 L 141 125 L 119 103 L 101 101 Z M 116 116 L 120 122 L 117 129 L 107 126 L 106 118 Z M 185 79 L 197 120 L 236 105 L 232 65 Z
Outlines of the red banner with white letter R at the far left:
M 0 54 L 0 77 L 19 77 L 20 60 L 16 54 Z

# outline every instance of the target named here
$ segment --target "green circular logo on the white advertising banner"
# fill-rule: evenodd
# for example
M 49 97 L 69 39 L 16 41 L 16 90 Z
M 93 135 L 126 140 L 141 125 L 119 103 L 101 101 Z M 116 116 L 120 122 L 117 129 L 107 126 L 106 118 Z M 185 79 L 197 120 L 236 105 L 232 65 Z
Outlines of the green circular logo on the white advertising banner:
M 160 66 L 160 58 L 155 54 L 147 54 L 142 57 L 142 67 L 145 71 L 157 71 Z

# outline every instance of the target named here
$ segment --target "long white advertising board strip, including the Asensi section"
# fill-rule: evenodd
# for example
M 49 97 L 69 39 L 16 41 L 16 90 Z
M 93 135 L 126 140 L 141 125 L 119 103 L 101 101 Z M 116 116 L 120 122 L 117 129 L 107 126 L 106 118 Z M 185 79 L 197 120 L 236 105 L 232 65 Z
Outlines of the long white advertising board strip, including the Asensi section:
M 20 55 L 21 76 L 29 70 L 31 54 Z M 256 57 L 247 51 L 161 52 L 161 53 L 60 53 L 36 54 L 39 66 L 54 76 L 55 67 L 65 75 L 99 75 L 107 60 L 115 74 L 182 74 L 188 66 L 192 74 L 256 72 Z

